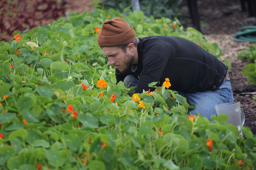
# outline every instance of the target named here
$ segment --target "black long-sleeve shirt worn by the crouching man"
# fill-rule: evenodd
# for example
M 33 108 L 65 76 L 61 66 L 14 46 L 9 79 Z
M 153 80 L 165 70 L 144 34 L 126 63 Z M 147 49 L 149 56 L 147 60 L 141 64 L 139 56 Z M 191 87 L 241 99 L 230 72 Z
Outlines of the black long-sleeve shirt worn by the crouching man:
M 216 90 L 222 84 L 227 66 L 198 44 L 187 39 L 171 36 L 139 38 L 138 66 L 121 73 L 116 69 L 117 82 L 125 76 L 139 79 L 136 93 L 154 88 L 148 84 L 159 82 L 160 86 L 169 78 L 170 90 L 203 92 Z M 133 66 L 132 66 L 133 67 Z

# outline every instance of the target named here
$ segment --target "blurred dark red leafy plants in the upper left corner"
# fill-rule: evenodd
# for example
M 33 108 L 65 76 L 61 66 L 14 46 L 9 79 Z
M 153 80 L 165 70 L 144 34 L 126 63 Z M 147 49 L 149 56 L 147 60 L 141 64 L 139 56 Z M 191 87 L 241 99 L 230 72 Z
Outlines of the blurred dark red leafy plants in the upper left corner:
M 0 41 L 10 41 L 13 31 L 52 23 L 65 15 L 66 0 L 1 0 Z

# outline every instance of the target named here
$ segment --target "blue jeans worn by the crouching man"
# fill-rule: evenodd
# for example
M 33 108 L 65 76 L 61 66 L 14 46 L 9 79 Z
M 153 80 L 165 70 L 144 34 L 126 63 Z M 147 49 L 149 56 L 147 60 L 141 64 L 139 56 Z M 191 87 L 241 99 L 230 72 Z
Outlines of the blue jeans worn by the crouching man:
M 127 77 L 127 78 L 126 78 Z M 131 86 L 137 86 L 138 79 L 132 75 L 126 76 L 124 79 L 124 84 Z M 215 105 L 233 102 L 233 92 L 230 84 L 230 80 L 223 81 L 221 86 L 217 90 L 206 90 L 204 92 L 193 92 L 193 93 L 185 93 L 182 91 L 177 91 L 182 97 L 187 99 L 188 104 L 195 104 L 196 109 L 188 110 L 188 114 L 199 113 L 200 115 L 206 117 L 209 121 L 212 121 L 210 118 L 211 115 L 216 113 Z

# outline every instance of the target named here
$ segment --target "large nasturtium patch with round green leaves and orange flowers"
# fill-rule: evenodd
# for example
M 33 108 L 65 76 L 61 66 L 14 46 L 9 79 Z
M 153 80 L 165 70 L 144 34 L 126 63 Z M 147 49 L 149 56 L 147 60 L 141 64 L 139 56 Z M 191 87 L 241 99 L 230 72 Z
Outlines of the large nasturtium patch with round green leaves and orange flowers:
M 224 115 L 191 122 L 194 106 L 175 91 L 162 86 L 134 101 L 133 88 L 116 84 L 95 32 L 116 16 L 138 37 L 180 36 L 221 55 L 216 43 L 184 31 L 178 20 L 114 9 L 72 13 L 69 21 L 20 33 L 19 42 L 0 42 L 0 169 L 255 169 L 249 128 L 242 127 L 244 140 Z M 107 86 L 98 87 L 99 79 Z

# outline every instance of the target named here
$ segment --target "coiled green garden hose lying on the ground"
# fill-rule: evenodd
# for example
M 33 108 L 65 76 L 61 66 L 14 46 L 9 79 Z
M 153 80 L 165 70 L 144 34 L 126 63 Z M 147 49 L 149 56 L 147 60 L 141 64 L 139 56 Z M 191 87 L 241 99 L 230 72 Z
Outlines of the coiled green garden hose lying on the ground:
M 256 42 L 256 26 L 243 26 L 233 37 L 239 42 Z

